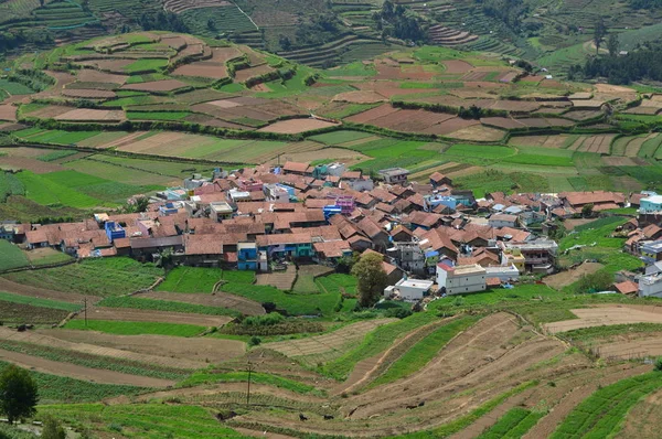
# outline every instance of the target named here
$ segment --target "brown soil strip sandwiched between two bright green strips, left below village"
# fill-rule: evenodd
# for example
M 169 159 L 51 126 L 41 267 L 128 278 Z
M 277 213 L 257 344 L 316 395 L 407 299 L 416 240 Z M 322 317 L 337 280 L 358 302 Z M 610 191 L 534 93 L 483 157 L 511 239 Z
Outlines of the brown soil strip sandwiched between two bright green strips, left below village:
M 78 314 L 83 319 L 83 313 Z M 116 320 L 127 322 L 161 322 L 195 324 L 200 326 L 223 326 L 233 319 L 227 315 L 204 315 L 186 312 L 143 311 L 129 308 L 94 308 L 87 311 L 89 320 Z

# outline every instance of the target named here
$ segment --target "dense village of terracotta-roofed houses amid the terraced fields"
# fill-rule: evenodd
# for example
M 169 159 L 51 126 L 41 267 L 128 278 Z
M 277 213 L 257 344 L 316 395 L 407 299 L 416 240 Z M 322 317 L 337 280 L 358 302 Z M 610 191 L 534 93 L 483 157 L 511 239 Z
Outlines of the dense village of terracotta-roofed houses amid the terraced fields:
M 391 282 L 384 295 L 417 300 L 431 289 L 460 295 L 509 285 L 525 272 L 549 274 L 557 244 L 531 229 L 546 235 L 549 220 L 576 216 L 586 205 L 626 205 L 613 192 L 490 193 L 477 200 L 439 172 L 425 183 L 409 182 L 401 168 L 377 174 L 342 163 L 217 169 L 158 193 L 143 213 L 8 223 L 0 232 L 28 248 L 49 246 L 78 258 L 154 260 L 168 254 L 177 264 L 257 271 L 285 260 L 337 266 L 376 251 Z

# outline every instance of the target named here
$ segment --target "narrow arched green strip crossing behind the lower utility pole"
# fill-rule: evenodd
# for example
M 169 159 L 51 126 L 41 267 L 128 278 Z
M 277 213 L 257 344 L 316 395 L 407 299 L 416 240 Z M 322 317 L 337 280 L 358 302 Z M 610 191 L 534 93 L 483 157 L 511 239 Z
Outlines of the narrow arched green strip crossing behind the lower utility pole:
M 301 395 L 317 394 L 321 395 L 313 386 L 308 384 L 299 383 L 293 379 L 284 378 L 277 375 L 270 375 L 259 372 L 250 374 L 250 381 L 257 384 L 264 384 L 267 386 L 280 387 L 287 390 L 291 390 Z M 199 371 L 193 373 L 189 378 L 179 383 L 180 387 L 194 387 L 201 384 L 211 383 L 245 383 L 248 382 L 247 372 L 214 372 L 214 371 Z

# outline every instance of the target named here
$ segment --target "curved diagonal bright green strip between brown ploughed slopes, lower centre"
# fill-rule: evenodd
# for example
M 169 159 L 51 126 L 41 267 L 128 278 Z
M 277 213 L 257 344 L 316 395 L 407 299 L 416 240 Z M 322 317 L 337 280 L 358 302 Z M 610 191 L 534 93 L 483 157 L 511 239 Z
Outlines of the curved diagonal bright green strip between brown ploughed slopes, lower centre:
M 479 317 L 466 315 L 436 329 L 391 364 L 383 375 L 370 384 L 370 387 L 393 383 L 421 370 L 453 336 L 478 320 Z

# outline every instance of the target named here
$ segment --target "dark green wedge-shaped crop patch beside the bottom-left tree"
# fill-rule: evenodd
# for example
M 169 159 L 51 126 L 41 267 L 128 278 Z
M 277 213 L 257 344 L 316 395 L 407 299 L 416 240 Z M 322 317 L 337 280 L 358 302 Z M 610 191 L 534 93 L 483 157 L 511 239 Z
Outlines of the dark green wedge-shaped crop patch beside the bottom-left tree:
M 7 365 L 9 363 L 0 361 L 0 370 Z M 41 404 L 93 403 L 115 396 L 138 395 L 139 393 L 149 390 L 146 387 L 90 383 L 34 371 L 30 371 L 30 375 L 36 382 Z

